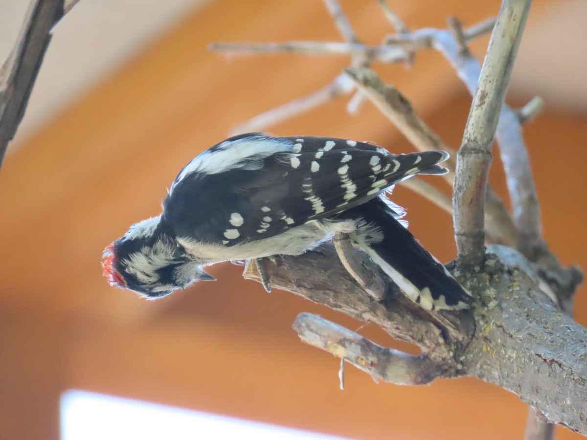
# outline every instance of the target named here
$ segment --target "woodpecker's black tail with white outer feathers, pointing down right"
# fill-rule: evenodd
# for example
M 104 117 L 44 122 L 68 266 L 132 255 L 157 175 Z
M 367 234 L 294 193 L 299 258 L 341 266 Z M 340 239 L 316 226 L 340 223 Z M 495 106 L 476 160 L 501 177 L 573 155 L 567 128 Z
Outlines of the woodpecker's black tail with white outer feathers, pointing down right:
M 471 296 L 434 256 L 396 219 L 399 215 L 379 197 L 342 215 L 365 221 L 351 238 L 424 309 L 465 309 Z

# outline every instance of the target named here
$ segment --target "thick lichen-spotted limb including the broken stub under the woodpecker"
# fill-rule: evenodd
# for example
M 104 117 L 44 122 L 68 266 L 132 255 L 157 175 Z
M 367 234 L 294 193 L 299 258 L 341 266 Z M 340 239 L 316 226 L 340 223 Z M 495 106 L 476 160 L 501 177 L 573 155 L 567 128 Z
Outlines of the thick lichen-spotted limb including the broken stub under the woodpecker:
M 346 272 L 329 243 L 302 256 L 284 256 L 268 264 L 268 272 L 277 288 L 416 344 L 440 365 L 438 377 L 466 374 L 497 384 L 539 409 L 548 421 L 587 435 L 587 329 L 559 312 L 535 282 L 535 273 L 519 267 L 534 272 L 524 256 L 502 247 L 491 251 L 507 252 L 504 260 L 517 266 L 504 266 L 489 255 L 488 272 L 455 272 L 478 298 L 472 311 L 426 312 L 397 293 L 384 275 L 388 295 L 377 302 Z M 369 264 L 380 273 L 365 259 Z M 252 265 L 245 276 L 258 279 Z

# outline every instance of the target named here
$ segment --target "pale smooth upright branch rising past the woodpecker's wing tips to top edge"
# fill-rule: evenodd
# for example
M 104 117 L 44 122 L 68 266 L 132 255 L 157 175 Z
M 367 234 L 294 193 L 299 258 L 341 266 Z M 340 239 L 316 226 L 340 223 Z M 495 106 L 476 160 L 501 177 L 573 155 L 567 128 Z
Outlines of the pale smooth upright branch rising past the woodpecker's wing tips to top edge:
M 458 260 L 469 266 L 483 263 L 484 205 L 491 147 L 510 73 L 531 0 L 504 0 L 457 155 L 453 215 Z

